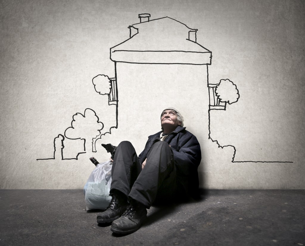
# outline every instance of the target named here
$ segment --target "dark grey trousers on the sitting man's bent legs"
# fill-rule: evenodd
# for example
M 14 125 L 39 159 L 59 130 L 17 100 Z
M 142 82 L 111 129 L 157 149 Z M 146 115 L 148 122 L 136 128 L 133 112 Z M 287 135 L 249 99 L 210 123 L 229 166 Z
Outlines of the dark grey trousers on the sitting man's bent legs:
M 120 191 L 150 208 L 154 201 L 168 201 L 176 193 L 176 167 L 173 152 L 164 141 L 152 145 L 142 169 L 135 148 L 128 141 L 116 149 L 112 164 L 110 194 Z

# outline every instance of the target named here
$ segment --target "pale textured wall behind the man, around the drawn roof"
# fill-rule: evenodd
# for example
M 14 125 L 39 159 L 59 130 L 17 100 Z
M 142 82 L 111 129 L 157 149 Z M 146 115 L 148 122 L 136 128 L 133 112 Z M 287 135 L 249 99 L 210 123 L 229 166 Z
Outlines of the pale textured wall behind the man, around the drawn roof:
M 116 105 L 95 91 L 92 78 L 115 77 L 109 49 L 129 38 L 127 27 L 139 22 L 140 13 L 198 29 L 197 42 L 213 55 L 209 83 L 230 79 L 238 102 L 208 116 L 200 66 L 181 65 L 176 73 L 155 66 L 154 73 L 120 63 L 117 122 Z M 82 188 L 94 167 L 89 157 L 110 157 L 101 143 L 129 140 L 140 152 L 147 136 L 160 129 L 163 106 L 172 105 L 206 153 L 201 187 L 304 189 L 304 13 L 304 1 L 282 0 L 0 1 L 0 188 Z M 137 75 L 146 76 L 145 83 Z M 193 89 L 181 89 L 188 78 Z M 145 91 L 156 102 L 146 102 Z M 72 159 L 84 152 L 84 141 L 66 138 L 65 131 L 87 108 L 105 135 L 96 141 L 96 153 L 87 148 Z M 217 142 L 208 139 L 209 120 Z M 66 160 L 60 158 L 62 136 Z

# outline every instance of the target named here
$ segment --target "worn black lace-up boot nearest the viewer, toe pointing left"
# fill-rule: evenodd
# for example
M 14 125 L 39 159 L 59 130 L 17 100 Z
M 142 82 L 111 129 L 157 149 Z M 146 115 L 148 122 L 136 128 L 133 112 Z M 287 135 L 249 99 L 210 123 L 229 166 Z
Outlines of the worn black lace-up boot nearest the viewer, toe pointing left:
M 113 221 L 110 230 L 117 234 L 130 234 L 138 230 L 146 219 L 147 210 L 144 205 L 135 203 L 128 205 L 126 212 Z

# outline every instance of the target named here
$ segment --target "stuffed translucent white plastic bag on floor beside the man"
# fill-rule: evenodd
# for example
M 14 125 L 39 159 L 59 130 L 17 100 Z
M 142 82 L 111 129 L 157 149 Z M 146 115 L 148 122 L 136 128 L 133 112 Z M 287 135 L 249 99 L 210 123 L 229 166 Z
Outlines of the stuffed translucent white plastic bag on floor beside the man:
M 106 209 L 111 196 L 109 196 L 111 184 L 112 162 L 99 163 L 89 176 L 84 186 L 86 209 Z

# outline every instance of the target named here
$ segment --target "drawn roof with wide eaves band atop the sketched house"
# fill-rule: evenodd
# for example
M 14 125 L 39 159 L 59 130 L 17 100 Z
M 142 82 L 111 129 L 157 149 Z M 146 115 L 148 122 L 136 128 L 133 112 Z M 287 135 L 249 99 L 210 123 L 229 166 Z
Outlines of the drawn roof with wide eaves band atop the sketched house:
M 210 64 L 208 49 L 196 42 L 196 31 L 170 17 L 129 26 L 130 38 L 110 49 L 117 62 Z M 132 34 L 134 32 L 134 34 Z

